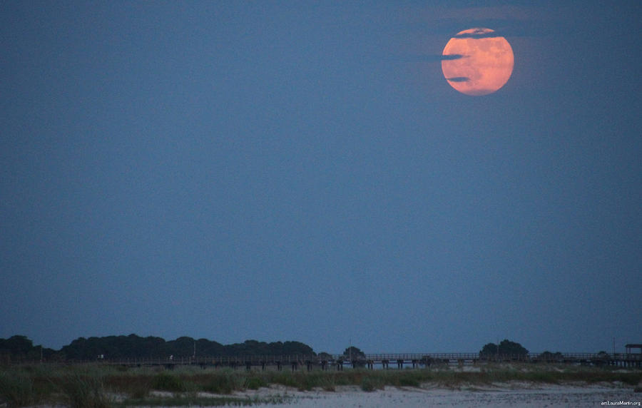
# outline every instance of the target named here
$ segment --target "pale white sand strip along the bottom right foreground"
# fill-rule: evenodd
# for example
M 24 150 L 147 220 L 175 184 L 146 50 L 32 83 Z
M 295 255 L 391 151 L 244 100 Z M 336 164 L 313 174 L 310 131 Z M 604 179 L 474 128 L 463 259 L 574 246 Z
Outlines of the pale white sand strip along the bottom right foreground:
M 284 404 L 260 404 L 258 407 L 601 407 L 603 402 L 632 402 L 639 404 L 642 394 L 631 388 L 599 386 L 533 386 L 501 384 L 486 389 L 449 390 L 439 388 L 386 387 L 375 392 L 363 392 L 358 387 L 337 387 L 335 392 L 300 392 L 274 387 L 255 392 L 242 392 L 238 397 L 286 397 Z M 619 405 L 625 406 L 626 405 Z M 635 406 L 635 405 L 630 405 Z

